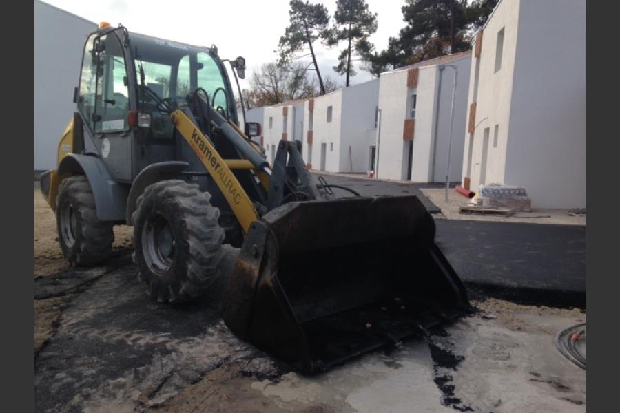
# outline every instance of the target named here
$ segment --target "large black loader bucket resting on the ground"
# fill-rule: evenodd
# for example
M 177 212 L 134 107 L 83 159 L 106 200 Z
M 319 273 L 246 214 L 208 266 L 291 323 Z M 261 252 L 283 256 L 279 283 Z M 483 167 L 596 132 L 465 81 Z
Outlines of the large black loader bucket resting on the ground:
M 223 319 L 306 373 L 395 344 L 469 308 L 434 238 L 415 196 L 285 204 L 251 224 Z

